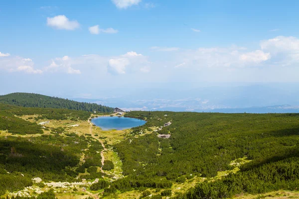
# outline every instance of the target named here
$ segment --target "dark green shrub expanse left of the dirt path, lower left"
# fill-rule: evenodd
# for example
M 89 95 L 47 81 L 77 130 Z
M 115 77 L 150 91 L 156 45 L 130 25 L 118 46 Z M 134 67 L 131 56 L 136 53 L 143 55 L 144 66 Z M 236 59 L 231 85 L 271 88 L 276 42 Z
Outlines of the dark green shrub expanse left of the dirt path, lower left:
M 32 178 L 39 177 L 44 182 L 76 182 L 82 150 L 90 146 L 85 163 L 79 168 L 88 168 L 86 179 L 102 178 L 96 167 L 101 166 L 101 156 L 94 150 L 101 149 L 98 141 L 84 136 L 41 135 L 37 137 L 0 137 L 0 196 L 6 191 L 13 192 L 32 186 Z M 94 146 L 95 145 L 95 146 Z M 91 164 L 92 163 L 92 164 Z M 43 183 L 36 184 L 43 187 Z

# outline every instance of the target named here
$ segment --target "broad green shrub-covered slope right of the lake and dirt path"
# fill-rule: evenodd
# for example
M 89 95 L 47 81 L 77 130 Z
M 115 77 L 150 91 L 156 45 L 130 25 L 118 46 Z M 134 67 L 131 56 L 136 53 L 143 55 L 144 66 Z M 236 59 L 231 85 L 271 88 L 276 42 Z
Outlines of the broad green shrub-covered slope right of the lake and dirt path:
M 127 177 L 111 188 L 125 192 L 159 188 L 162 182 L 163 188 L 170 188 L 190 175 L 209 179 L 217 172 L 233 169 L 232 160 L 245 157 L 250 162 L 240 172 L 222 180 L 207 180 L 177 197 L 217 199 L 299 189 L 299 114 L 132 111 L 126 116 L 148 122 L 134 128 L 132 138 L 114 146 Z M 156 133 L 135 137 L 169 121 L 169 126 Z M 165 139 L 157 134 L 171 136 Z

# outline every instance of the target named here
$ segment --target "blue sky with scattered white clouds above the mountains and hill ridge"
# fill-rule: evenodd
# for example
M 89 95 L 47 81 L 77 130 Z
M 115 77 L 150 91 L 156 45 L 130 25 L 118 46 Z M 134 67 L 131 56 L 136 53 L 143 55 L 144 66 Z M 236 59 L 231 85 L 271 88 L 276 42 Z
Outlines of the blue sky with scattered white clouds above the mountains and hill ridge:
M 0 95 L 299 82 L 298 0 L 0 1 Z

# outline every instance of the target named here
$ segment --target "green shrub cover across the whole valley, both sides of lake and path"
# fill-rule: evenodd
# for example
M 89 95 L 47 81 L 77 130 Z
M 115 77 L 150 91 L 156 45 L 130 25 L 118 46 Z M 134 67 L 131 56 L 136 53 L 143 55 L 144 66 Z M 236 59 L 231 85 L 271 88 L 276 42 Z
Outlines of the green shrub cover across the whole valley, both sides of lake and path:
M 87 120 L 90 115 L 88 111 L 0 103 L 0 130 L 12 133 L 0 136 L 0 196 L 28 186 L 43 189 L 49 181 L 71 183 L 82 179 L 99 179 L 87 188 L 104 190 L 104 197 L 136 190 L 146 199 L 152 189 L 156 189 L 152 199 L 219 199 L 299 189 L 299 114 L 129 112 L 126 116 L 147 123 L 128 130 L 126 139 L 109 145 L 118 153 L 125 175 L 112 183 L 108 181 L 114 176 L 107 174 L 114 171 L 100 172 L 103 147 L 92 137 L 94 132 L 87 129 L 79 133 L 67 126 L 72 121 L 58 121 L 43 133 L 41 125 L 30 122 Z M 28 117 L 31 119 L 22 119 Z M 85 123 L 78 129 L 90 127 Z M 170 125 L 164 126 L 166 123 Z M 108 137 L 97 133 L 97 138 L 107 143 Z M 159 138 L 158 134 L 170 137 Z M 106 159 L 102 169 L 110 171 L 114 167 Z M 234 173 L 228 174 L 228 170 Z M 35 177 L 42 183 L 33 183 Z M 200 183 L 187 192 L 176 192 L 178 186 L 192 181 Z M 79 192 L 72 187 L 70 192 L 74 191 Z M 55 198 L 51 192 L 38 197 Z

